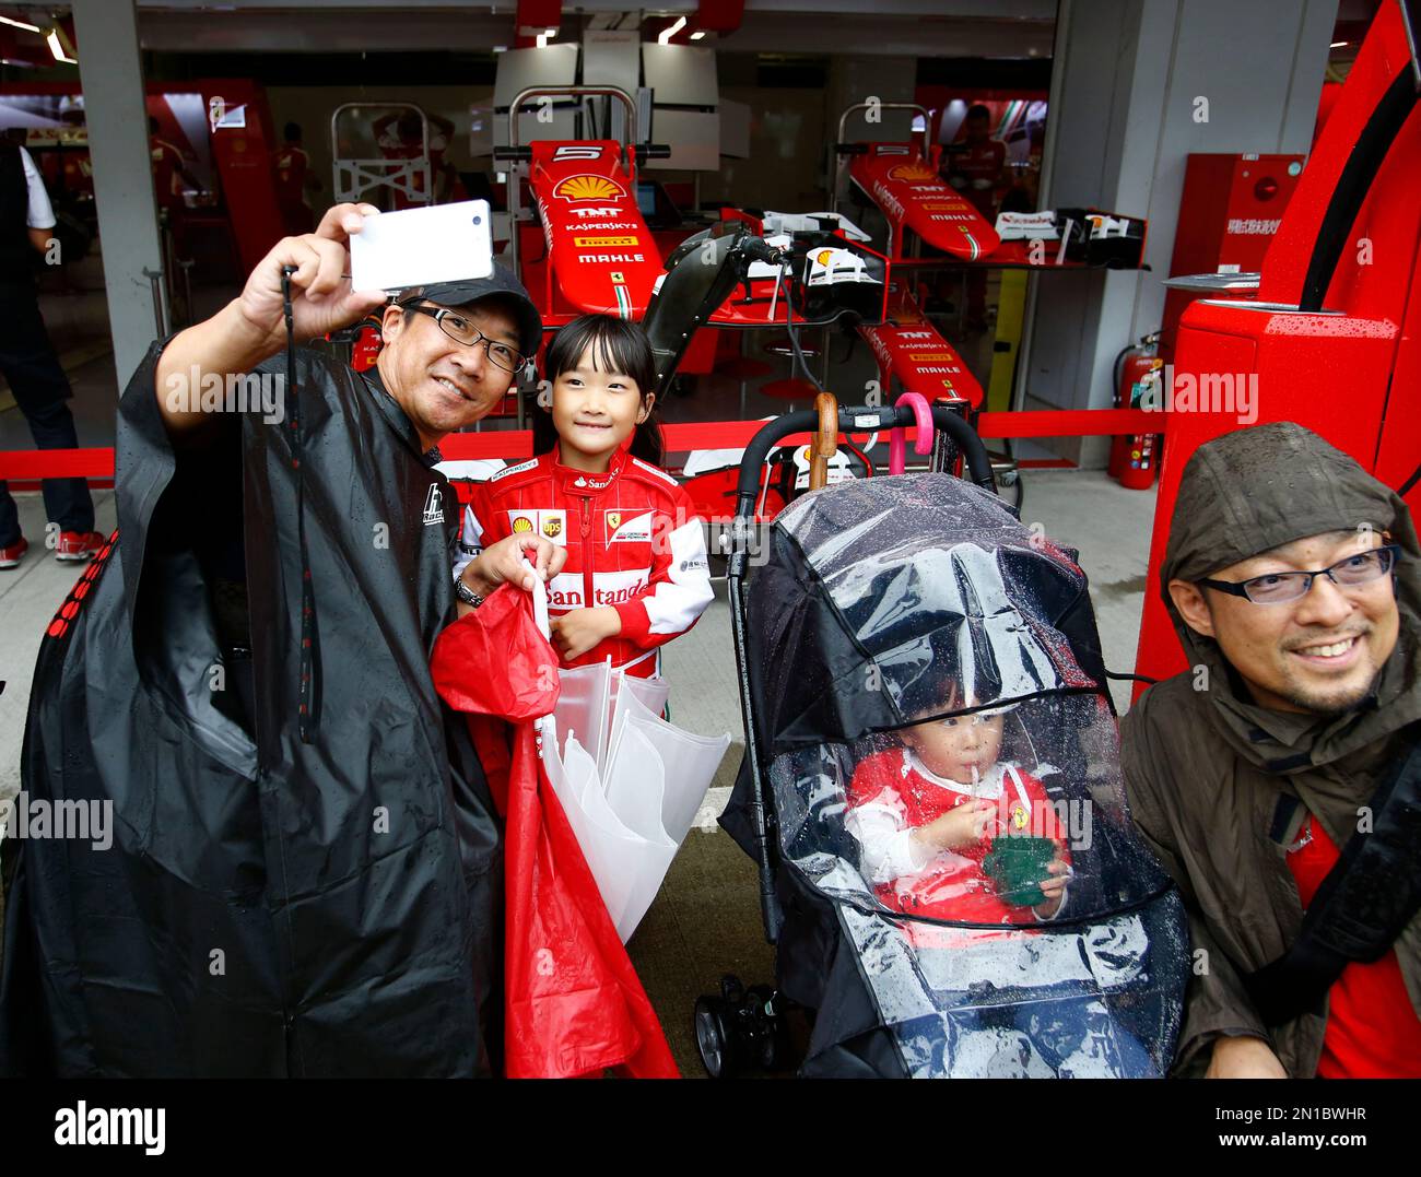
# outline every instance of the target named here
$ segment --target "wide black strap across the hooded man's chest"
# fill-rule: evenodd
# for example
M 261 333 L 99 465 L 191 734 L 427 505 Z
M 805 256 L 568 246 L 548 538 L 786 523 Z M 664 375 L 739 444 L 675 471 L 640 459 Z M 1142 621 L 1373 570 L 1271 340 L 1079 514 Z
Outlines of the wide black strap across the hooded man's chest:
M 1371 797 L 1373 827 L 1349 839 L 1293 945 L 1243 979 L 1270 1025 L 1320 1008 L 1350 961 L 1380 960 L 1421 908 L 1421 725 Z

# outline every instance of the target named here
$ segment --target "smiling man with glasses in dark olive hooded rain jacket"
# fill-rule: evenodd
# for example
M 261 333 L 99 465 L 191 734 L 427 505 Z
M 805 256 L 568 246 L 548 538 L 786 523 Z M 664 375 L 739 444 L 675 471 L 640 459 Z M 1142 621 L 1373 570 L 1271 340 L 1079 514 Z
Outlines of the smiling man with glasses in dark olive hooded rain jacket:
M 1337 961 L 1316 995 L 1275 967 L 1289 1015 L 1255 975 L 1296 948 L 1322 878 L 1417 748 L 1421 552 L 1405 503 L 1290 422 L 1225 435 L 1185 468 L 1160 588 L 1191 670 L 1140 698 L 1121 751 L 1135 824 L 1189 910 L 1175 1072 L 1421 1075 L 1414 905 L 1394 908 L 1401 931 L 1378 960 Z M 1393 860 L 1377 890 L 1414 893 L 1418 873 L 1414 853 Z

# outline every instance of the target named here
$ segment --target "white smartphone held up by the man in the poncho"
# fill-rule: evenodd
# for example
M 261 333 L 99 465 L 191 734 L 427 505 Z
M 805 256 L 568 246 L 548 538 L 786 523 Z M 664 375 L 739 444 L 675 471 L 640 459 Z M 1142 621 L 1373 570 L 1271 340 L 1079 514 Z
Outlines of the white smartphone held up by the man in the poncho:
M 487 200 L 367 216 L 351 237 L 351 286 L 396 291 L 493 273 Z

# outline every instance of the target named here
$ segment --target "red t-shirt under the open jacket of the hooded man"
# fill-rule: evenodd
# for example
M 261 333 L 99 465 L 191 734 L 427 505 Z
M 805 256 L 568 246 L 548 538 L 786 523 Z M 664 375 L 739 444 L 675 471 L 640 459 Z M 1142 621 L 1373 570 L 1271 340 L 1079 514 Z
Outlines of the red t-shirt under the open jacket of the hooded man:
M 1303 834 L 1312 842 L 1287 856 L 1303 910 L 1313 901 L 1327 871 L 1340 857 L 1310 813 Z M 1327 1033 L 1317 1060 L 1320 1079 L 1421 1077 L 1421 1018 L 1417 1018 L 1401 979 L 1394 948 L 1380 961 L 1351 961 L 1327 994 Z

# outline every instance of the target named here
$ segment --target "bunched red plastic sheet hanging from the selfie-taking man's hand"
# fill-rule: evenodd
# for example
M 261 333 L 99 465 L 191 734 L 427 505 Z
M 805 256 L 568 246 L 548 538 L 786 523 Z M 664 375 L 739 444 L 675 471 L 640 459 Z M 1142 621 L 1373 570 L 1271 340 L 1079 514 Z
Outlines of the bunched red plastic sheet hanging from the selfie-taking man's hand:
M 446 628 L 435 688 L 470 728 L 506 813 L 504 1072 L 510 1079 L 676 1077 L 661 1023 L 543 772 L 533 721 L 557 702 L 557 654 L 527 593 L 502 587 Z M 486 716 L 513 722 L 499 738 Z

